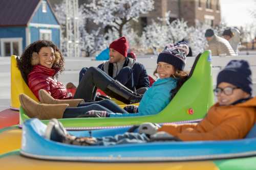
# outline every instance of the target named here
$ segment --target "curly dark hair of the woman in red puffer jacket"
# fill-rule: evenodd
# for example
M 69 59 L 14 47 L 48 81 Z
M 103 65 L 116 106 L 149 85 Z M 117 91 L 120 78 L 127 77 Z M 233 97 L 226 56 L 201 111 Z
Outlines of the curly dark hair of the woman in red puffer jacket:
M 28 75 L 34 67 L 34 65 L 32 65 L 32 54 L 38 54 L 42 47 L 52 47 L 54 50 L 55 61 L 52 68 L 59 72 L 64 70 L 64 58 L 59 48 L 52 41 L 35 41 L 25 48 L 25 51 L 20 58 L 17 58 L 17 67 L 22 73 L 22 77 L 26 83 L 28 83 Z M 39 64 L 39 62 L 37 64 Z

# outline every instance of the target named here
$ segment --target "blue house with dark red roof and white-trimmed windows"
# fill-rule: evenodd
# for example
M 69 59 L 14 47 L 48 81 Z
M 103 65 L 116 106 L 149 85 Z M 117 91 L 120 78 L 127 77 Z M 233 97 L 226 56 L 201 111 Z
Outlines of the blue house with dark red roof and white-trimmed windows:
M 0 56 L 20 56 L 39 39 L 60 47 L 60 24 L 48 0 L 1 0 Z

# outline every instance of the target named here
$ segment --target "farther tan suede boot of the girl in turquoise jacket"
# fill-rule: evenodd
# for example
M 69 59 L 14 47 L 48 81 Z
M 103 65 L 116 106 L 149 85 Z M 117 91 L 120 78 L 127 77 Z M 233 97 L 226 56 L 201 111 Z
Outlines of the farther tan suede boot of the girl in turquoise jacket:
M 78 104 L 84 103 L 83 99 L 59 100 L 54 99 L 46 90 L 38 91 L 39 100 L 44 104 L 69 104 L 69 107 L 77 107 Z

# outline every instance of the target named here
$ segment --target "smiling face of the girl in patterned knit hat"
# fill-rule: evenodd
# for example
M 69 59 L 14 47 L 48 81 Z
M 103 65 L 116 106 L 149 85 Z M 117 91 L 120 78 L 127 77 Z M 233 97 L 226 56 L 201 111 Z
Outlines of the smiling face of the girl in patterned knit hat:
M 175 74 L 174 66 L 172 64 L 160 61 L 157 63 L 157 74 L 159 75 L 160 79 L 169 78 Z

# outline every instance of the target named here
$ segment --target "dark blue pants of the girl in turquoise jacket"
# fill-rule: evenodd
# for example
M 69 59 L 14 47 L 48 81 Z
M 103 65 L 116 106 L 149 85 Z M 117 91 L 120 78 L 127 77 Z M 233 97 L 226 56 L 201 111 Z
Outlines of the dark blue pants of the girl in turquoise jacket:
M 116 103 L 110 100 L 102 100 L 99 102 L 83 103 L 78 107 L 67 108 L 63 114 L 63 118 L 74 118 L 85 114 L 90 110 L 106 111 L 108 113 L 128 113 L 120 108 Z

